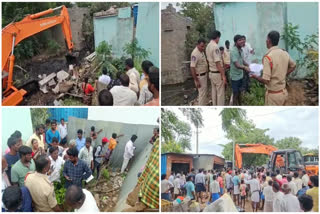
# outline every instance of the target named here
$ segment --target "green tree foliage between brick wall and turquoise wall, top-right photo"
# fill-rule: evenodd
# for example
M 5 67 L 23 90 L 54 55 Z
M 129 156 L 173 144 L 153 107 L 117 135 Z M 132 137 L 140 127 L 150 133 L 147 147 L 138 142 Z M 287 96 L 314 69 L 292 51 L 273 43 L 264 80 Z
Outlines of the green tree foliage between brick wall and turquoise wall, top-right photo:
M 210 34 L 216 28 L 213 15 L 214 3 L 184 2 L 177 3 L 177 6 L 180 6 L 182 15 L 192 19 L 192 27 L 188 30 L 185 42 L 186 58 L 189 59 L 198 39 L 208 38 L 209 41 Z

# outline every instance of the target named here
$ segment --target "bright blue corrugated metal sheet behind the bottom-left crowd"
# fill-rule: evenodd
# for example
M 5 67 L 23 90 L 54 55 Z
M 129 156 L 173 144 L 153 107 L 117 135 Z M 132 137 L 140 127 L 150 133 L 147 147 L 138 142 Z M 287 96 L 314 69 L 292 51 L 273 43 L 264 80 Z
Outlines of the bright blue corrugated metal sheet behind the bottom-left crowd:
M 60 121 L 63 118 L 67 122 L 69 117 L 88 118 L 87 108 L 49 108 L 48 111 L 51 114 L 50 120 Z

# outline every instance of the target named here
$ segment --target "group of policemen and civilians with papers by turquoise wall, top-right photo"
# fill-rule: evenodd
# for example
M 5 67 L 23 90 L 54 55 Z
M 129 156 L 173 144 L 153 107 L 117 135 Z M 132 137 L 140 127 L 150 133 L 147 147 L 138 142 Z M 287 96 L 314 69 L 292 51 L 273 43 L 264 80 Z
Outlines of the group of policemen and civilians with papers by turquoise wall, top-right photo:
M 251 72 L 251 56 L 254 49 L 246 42 L 243 35 L 234 36 L 234 45 L 225 42 L 225 47 L 219 47 L 221 33 L 215 30 L 206 46 L 204 39 L 191 54 L 191 74 L 199 93 L 199 105 L 207 105 L 208 78 L 211 82 L 212 105 L 225 105 L 225 90 L 228 84 L 232 89 L 232 105 L 241 105 L 241 94 L 249 93 L 250 77 L 266 87 L 265 105 L 285 105 L 288 98 L 286 77 L 296 68 L 296 63 L 289 54 L 278 47 L 280 34 L 271 31 L 267 35 L 268 51 L 263 56 L 262 76 Z

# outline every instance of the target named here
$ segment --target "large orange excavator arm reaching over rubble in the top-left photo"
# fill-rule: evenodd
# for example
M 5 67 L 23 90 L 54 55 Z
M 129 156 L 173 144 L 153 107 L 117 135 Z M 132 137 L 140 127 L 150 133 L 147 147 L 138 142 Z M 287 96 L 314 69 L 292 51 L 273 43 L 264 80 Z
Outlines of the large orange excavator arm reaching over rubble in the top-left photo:
M 40 18 L 61 9 L 60 15 Z M 14 47 L 22 40 L 39 32 L 61 24 L 69 51 L 73 49 L 69 13 L 65 6 L 48 9 L 28 15 L 19 22 L 13 22 L 2 29 L 2 86 L 4 92 L 2 105 L 18 105 L 22 102 L 26 91 L 13 86 Z

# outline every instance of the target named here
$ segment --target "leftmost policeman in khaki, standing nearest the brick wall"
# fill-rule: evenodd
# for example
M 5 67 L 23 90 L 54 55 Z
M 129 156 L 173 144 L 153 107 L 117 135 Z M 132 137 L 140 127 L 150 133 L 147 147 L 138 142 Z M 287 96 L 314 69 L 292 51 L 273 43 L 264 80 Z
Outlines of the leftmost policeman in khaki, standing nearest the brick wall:
M 207 105 L 208 63 L 204 53 L 206 41 L 199 39 L 198 44 L 191 53 L 191 75 L 199 92 L 199 105 Z

